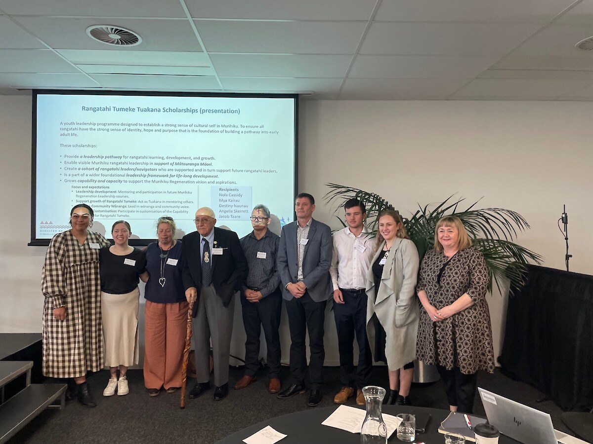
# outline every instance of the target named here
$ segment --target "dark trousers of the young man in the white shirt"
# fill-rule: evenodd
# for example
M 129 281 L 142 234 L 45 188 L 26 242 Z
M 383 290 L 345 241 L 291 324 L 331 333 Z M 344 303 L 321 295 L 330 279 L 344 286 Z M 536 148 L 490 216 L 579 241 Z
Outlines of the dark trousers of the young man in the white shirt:
M 372 355 L 366 337 L 366 292 L 341 289 L 343 304 L 333 304 L 337 345 L 340 352 L 340 382 L 363 388 L 371 379 Z M 358 366 L 354 366 L 354 337 L 358 343 Z

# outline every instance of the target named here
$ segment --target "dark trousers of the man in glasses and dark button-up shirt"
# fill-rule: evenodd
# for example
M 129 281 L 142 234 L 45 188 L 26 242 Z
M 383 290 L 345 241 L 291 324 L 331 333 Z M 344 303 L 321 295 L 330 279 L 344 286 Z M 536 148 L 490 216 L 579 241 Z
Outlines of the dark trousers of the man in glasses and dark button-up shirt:
M 276 290 L 257 303 L 251 303 L 241 295 L 241 311 L 247 339 L 245 341 L 245 374 L 255 376 L 260 367 L 260 333 L 266 336 L 268 376 L 279 378 L 280 375 L 280 313 L 282 311 L 282 293 Z

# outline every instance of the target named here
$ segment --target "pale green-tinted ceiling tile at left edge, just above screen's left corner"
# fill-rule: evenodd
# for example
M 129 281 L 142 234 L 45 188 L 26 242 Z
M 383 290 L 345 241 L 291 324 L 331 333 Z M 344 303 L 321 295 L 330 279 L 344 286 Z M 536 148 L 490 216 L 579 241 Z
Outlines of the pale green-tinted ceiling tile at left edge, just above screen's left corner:
M 0 85 L 18 88 L 93 88 L 97 85 L 84 74 L 0 73 Z

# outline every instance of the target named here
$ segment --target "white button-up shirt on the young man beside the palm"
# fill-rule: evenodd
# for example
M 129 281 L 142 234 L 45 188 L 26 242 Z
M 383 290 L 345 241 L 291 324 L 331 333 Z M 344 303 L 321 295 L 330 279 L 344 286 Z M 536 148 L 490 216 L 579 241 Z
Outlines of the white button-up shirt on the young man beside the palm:
M 330 275 L 334 291 L 338 288 L 365 288 L 366 272 L 374 255 L 375 237 L 363 227 L 354 236 L 349 227 L 333 234 Z

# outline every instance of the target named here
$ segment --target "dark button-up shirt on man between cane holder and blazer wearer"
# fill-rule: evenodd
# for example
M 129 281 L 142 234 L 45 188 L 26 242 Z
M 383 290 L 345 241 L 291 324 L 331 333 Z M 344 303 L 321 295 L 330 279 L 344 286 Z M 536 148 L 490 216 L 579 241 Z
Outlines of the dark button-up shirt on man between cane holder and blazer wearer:
M 262 297 L 272 294 L 280 285 L 280 275 L 276 268 L 279 243 L 280 236 L 270 230 L 259 240 L 253 231 L 241 239 L 241 247 L 249 265 L 246 287 L 259 288 Z M 265 253 L 266 258 L 258 258 L 257 253 Z

